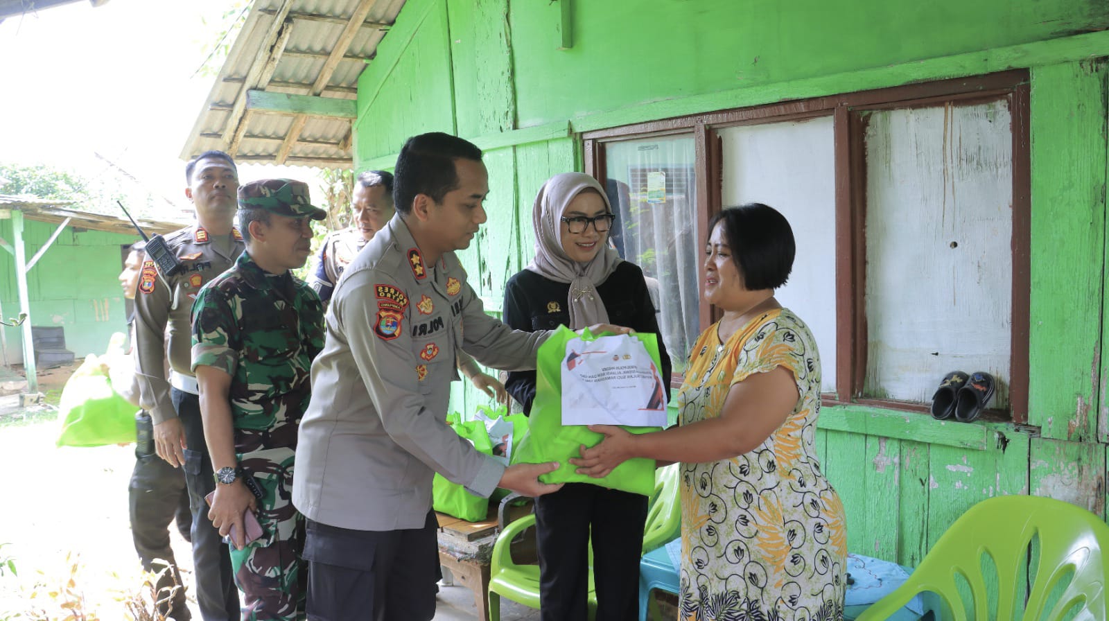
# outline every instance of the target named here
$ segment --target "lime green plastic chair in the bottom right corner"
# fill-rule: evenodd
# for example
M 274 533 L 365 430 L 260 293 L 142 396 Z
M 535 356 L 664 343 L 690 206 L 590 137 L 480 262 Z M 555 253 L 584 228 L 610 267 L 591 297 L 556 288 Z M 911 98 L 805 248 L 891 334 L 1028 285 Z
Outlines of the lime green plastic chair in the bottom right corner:
M 1038 562 L 1029 551 L 1039 538 Z M 887 619 L 918 593 L 937 601 L 937 619 L 1074 619 L 1106 621 L 1105 583 L 1109 526 L 1093 513 L 1068 502 L 1035 496 L 1000 496 L 983 500 L 964 513 L 924 557 L 901 588 L 868 608 L 857 621 Z M 997 570 L 996 613 L 983 574 L 984 557 Z M 1035 566 L 1032 563 L 1036 563 Z M 1029 573 L 1035 569 L 1035 573 Z M 969 587 L 971 605 L 964 604 L 956 582 Z M 1020 601 L 1028 577 L 1027 602 Z M 962 581 L 960 581 L 962 582 Z M 1051 595 L 1058 599 L 1045 610 Z

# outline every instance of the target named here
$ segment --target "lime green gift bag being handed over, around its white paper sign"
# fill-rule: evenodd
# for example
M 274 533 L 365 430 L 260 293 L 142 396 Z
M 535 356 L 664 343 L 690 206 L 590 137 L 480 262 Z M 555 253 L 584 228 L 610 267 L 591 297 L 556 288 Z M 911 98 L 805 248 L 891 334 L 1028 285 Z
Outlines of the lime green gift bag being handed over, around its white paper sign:
M 601 335 L 592 335 L 587 329 L 581 338 L 596 340 Z M 633 334 L 650 355 L 655 367 L 659 364 L 659 344 L 653 334 Z M 590 431 L 584 425 L 562 425 L 562 360 L 566 357 L 567 343 L 579 335 L 561 326 L 542 346 L 536 362 L 536 399 L 531 404 L 531 417 L 528 421 L 528 432 L 512 451 L 512 464 L 540 464 L 558 461 L 559 468 L 539 477 L 547 483 L 584 482 L 611 489 L 630 491 L 650 496 L 654 491 L 654 460 L 635 458 L 624 461 L 612 469 L 607 477 L 597 478 L 579 475 L 577 466 L 570 464 L 571 457 L 580 457 L 580 447 L 594 446 L 604 438 L 601 434 Z M 627 427 L 632 434 L 658 431 L 661 427 Z

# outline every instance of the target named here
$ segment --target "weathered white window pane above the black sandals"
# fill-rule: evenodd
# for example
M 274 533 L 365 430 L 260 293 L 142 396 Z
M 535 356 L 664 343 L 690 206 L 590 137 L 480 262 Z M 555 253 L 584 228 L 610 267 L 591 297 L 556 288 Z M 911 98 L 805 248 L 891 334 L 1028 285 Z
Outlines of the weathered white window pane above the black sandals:
M 946 373 L 985 370 L 1007 408 L 1008 101 L 873 112 L 865 140 L 864 395 L 929 401 Z

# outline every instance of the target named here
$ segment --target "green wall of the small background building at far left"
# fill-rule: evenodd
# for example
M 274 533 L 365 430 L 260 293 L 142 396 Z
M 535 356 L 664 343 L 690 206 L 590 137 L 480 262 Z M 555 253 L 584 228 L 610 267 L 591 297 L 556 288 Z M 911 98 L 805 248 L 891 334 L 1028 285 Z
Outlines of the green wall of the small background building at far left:
M 57 224 L 23 221 L 27 259 L 30 261 L 57 230 Z M 0 220 L 0 237 L 13 241 L 10 220 Z M 65 348 L 78 358 L 103 354 L 112 333 L 126 332 L 128 310 L 116 277 L 123 266 L 122 247 L 136 238 L 118 233 L 67 226 L 27 275 L 34 326 L 62 326 Z M 0 313 L 19 314 L 16 259 L 0 251 Z M 4 359 L 22 364 L 20 328 L 3 327 Z

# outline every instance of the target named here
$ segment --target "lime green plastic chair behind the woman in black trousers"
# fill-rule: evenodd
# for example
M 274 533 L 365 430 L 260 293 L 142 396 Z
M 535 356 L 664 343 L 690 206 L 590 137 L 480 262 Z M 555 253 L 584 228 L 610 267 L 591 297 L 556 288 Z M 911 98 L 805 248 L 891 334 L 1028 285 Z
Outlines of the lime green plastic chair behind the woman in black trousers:
M 664 546 L 681 531 L 681 503 L 678 465 L 659 468 L 654 474 L 654 493 L 648 500 L 647 523 L 643 528 L 643 553 Z M 528 608 L 539 608 L 539 566 L 512 561 L 511 543 L 525 530 L 535 526 L 536 516 L 525 516 L 505 527 L 497 536 L 489 568 L 489 621 L 500 620 L 500 598 L 508 598 Z M 593 549 L 589 548 L 589 564 Z M 589 618 L 597 615 L 597 588 L 589 572 Z

